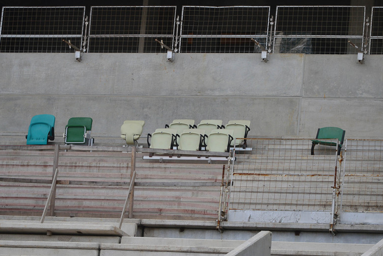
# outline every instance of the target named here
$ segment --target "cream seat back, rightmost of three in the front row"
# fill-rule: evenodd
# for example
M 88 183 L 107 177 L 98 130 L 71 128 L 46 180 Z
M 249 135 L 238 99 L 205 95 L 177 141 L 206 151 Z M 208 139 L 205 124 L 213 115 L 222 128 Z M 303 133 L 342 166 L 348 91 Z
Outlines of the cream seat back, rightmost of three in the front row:
M 234 131 L 229 129 L 212 130 L 208 137 L 207 151 L 228 152 Z

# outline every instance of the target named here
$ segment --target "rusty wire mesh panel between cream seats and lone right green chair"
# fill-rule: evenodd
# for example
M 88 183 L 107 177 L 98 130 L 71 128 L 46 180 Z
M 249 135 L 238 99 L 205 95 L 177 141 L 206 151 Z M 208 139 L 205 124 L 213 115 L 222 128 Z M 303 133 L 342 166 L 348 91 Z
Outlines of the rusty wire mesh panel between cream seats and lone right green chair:
M 334 140 L 330 140 L 334 141 Z M 329 211 L 336 147 L 308 139 L 247 139 L 251 154 L 235 154 L 230 209 Z

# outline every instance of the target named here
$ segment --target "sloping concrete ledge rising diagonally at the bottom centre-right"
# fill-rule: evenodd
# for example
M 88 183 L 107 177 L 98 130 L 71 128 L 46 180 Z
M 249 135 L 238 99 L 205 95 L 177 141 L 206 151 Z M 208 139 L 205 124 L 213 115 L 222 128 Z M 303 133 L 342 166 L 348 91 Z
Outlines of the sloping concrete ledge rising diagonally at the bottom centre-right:
M 235 248 L 227 256 L 270 256 L 272 233 L 261 231 Z

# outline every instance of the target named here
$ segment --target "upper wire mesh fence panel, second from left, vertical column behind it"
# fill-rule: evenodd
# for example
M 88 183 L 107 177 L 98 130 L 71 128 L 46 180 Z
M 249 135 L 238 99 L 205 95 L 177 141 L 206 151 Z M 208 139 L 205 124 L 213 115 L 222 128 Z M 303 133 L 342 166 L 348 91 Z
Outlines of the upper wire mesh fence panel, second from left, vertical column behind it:
M 161 52 L 174 44 L 176 6 L 92 6 L 89 52 Z

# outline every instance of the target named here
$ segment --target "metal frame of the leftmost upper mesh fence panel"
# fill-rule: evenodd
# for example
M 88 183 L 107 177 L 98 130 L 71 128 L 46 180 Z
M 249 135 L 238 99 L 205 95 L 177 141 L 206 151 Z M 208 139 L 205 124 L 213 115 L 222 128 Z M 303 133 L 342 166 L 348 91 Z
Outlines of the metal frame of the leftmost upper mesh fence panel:
M 82 31 L 81 34 L 2 34 L 2 25 L 3 25 L 3 18 L 4 18 L 4 9 L 7 8 L 37 8 L 37 9 L 54 9 L 54 8 L 64 8 L 64 9 L 69 9 L 69 8 L 83 8 L 82 10 Z M 81 45 L 79 48 L 82 48 L 83 46 L 83 35 L 84 35 L 84 21 L 85 21 L 85 6 L 4 6 L 1 9 L 1 20 L 0 20 L 0 42 L 1 38 L 63 38 L 63 37 L 76 37 L 76 38 L 81 38 Z M 62 41 L 62 40 L 60 40 Z M 29 51 L 27 51 L 29 52 Z

